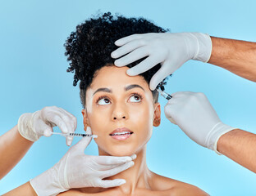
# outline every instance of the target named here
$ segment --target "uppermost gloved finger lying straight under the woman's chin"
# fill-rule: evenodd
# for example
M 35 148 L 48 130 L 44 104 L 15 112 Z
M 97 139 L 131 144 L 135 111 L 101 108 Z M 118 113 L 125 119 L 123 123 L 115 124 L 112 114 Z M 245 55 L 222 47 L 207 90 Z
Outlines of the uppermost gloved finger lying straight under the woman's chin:
M 131 157 L 94 156 L 94 161 L 101 165 L 122 164 L 132 160 Z

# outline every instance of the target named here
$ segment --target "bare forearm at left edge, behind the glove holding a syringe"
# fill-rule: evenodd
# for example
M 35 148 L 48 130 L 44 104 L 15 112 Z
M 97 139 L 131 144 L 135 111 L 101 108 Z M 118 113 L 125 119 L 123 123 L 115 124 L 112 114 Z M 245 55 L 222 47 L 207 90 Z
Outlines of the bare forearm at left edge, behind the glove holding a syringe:
M 33 142 L 22 137 L 17 126 L 0 136 L 0 179 L 19 163 L 31 145 Z

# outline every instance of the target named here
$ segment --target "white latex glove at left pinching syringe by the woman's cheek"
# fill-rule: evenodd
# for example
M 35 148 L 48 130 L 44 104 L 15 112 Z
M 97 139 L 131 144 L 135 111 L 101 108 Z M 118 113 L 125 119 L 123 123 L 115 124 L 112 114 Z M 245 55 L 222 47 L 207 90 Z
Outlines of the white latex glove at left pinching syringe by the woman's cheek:
M 36 141 L 40 136 L 52 136 L 53 127 L 59 127 L 63 133 L 74 132 L 76 118 L 62 108 L 45 107 L 34 113 L 22 114 L 18 121 L 18 130 L 27 140 Z M 66 137 L 66 145 L 71 145 L 72 136 Z

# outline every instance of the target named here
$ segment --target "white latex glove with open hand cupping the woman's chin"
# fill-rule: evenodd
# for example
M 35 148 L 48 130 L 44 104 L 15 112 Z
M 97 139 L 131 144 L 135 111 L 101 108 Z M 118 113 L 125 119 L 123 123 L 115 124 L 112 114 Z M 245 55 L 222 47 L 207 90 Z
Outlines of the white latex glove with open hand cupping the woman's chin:
M 87 127 L 86 134 L 91 134 Z M 67 189 L 80 187 L 109 188 L 126 183 L 124 179 L 103 180 L 134 165 L 131 157 L 90 156 L 84 153 L 91 138 L 85 137 L 67 151 L 48 171 L 30 180 L 39 196 L 57 195 Z

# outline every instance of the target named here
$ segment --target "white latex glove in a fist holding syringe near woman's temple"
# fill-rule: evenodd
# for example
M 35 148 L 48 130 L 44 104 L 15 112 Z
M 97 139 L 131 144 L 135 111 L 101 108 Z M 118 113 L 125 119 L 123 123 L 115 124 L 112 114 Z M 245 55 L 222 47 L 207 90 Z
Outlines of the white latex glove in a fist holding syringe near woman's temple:
M 184 91 L 171 96 L 164 107 L 166 117 L 171 122 L 174 120 L 190 139 L 219 154 L 217 141 L 235 128 L 222 123 L 203 93 Z

